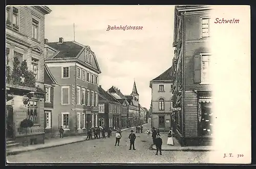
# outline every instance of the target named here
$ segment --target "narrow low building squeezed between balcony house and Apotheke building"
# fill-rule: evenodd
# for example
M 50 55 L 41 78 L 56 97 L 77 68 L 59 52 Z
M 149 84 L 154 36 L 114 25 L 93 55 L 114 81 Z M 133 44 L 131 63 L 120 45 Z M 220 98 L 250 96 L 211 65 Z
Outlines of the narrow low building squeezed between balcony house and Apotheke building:
M 58 86 L 57 81 L 53 77 L 51 71 L 45 63 L 45 116 L 44 116 L 44 127 L 45 137 L 51 138 L 52 134 L 52 114 L 54 112 L 54 87 Z

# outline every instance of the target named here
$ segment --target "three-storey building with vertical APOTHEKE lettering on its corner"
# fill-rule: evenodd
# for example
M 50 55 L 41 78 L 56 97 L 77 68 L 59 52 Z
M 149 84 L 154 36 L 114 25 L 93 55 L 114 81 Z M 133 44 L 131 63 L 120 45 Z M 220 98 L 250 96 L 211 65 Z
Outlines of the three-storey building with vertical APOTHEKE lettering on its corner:
M 98 75 L 101 73 L 90 46 L 75 41 L 48 42 L 45 39 L 45 62 L 58 81 L 54 88 L 52 131 L 64 135 L 86 133 L 98 125 Z

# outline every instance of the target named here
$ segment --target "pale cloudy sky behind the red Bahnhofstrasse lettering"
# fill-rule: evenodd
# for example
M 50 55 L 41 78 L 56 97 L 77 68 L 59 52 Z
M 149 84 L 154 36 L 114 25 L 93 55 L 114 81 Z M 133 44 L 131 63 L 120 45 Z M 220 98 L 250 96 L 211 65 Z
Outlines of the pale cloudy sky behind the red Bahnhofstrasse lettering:
M 174 6 L 48 6 L 45 38 L 74 40 L 91 47 L 101 69 L 99 85 L 130 95 L 134 80 L 139 102 L 150 108 L 150 80 L 174 57 Z M 108 26 L 143 26 L 142 30 L 110 30 Z

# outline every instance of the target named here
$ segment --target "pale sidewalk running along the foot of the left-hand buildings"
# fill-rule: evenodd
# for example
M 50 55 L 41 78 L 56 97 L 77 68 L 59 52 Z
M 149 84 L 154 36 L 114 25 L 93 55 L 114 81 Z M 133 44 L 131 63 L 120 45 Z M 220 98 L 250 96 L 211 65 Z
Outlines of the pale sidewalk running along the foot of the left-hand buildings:
M 143 124 L 144 126 L 146 124 Z M 130 127 L 126 129 L 121 129 L 121 131 L 133 129 L 135 127 Z M 23 152 L 34 151 L 34 150 L 41 150 L 47 149 L 51 147 L 63 146 L 72 143 L 84 142 L 86 141 L 87 136 L 68 136 L 64 138 L 53 138 L 45 140 L 45 144 L 38 144 L 38 145 L 29 145 L 28 147 L 18 146 L 18 147 L 11 147 L 6 150 L 7 155 L 15 155 Z

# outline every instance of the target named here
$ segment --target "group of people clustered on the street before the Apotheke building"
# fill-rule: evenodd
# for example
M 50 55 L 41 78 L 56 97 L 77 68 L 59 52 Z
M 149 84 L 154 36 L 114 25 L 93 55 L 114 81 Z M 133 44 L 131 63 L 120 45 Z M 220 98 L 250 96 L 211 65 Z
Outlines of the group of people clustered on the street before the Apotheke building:
M 87 131 L 87 138 L 86 139 L 92 139 L 93 138 L 93 134 L 94 134 L 94 138 L 100 138 L 100 133 L 102 135 L 102 139 L 106 138 L 105 136 L 105 128 L 104 127 L 90 127 L 90 129 Z M 110 138 L 110 136 L 112 135 L 112 128 L 110 127 L 108 132 L 108 138 Z

